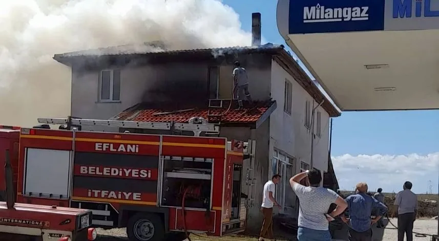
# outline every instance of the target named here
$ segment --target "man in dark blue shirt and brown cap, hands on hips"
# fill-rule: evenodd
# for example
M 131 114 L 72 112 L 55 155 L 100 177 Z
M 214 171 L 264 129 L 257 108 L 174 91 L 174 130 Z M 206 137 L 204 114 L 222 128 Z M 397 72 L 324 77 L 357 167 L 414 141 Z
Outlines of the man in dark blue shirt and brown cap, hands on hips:
M 356 194 L 348 196 L 346 199 L 349 220 L 342 215 L 343 222 L 348 224 L 349 241 L 372 241 L 371 225 L 377 223 L 387 212 L 387 207 L 378 200 L 367 194 L 367 184 L 359 183 L 356 186 Z M 370 218 L 372 210 L 379 210 L 379 216 Z

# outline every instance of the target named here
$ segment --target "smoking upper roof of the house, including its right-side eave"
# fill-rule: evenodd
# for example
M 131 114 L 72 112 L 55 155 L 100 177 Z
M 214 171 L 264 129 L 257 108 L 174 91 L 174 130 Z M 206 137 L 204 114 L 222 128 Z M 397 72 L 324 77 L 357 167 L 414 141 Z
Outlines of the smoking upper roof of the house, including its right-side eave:
M 296 60 L 284 49 L 283 45 L 267 43 L 262 46 L 247 47 L 228 47 L 228 48 L 211 48 L 211 49 L 189 49 L 189 50 L 164 50 L 163 46 L 156 43 L 148 43 L 142 46 L 125 45 L 94 50 L 84 50 L 63 54 L 55 54 L 53 59 L 66 64 L 73 65 L 81 62 L 82 64 L 92 63 L 101 59 L 139 59 L 149 57 L 160 59 L 166 57 L 182 57 L 194 60 L 196 58 L 212 58 L 218 56 L 236 56 L 236 54 L 253 54 L 264 53 L 271 57 L 288 72 L 306 92 L 312 96 L 318 103 L 323 101 L 322 107 L 330 117 L 338 117 L 341 113 L 337 108 L 323 95 L 319 87 L 309 78 L 305 71 L 299 66 Z M 128 61 L 128 60 L 126 60 Z

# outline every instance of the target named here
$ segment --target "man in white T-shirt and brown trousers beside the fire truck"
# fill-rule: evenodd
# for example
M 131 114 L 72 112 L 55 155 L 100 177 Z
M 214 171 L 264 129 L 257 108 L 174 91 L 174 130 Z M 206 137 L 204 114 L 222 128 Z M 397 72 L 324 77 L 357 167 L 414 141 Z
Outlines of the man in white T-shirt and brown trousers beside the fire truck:
M 280 208 L 280 205 L 276 202 L 274 195 L 276 184 L 278 184 L 280 180 L 281 176 L 276 174 L 264 185 L 261 205 L 261 212 L 264 215 L 264 222 L 262 223 L 259 241 L 264 240 L 264 238 L 273 239 L 273 206 L 278 206 Z

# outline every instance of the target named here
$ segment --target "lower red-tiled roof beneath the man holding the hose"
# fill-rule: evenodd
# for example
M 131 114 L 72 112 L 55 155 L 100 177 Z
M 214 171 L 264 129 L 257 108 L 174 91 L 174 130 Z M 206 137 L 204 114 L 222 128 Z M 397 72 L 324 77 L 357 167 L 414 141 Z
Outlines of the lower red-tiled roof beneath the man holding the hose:
M 231 108 L 228 108 L 229 105 L 231 105 Z M 186 123 L 192 117 L 202 117 L 208 120 L 208 107 L 175 110 L 175 108 L 150 106 L 148 103 L 136 104 L 111 118 L 111 120 L 137 122 L 173 121 L 177 123 Z M 243 108 L 238 109 L 236 100 L 232 104 L 230 104 L 229 100 L 223 100 L 222 106 L 220 108 L 211 108 L 210 112 L 211 115 L 222 115 L 221 123 L 256 124 L 256 127 L 258 127 L 274 112 L 276 101 L 257 102 L 252 105 L 244 102 Z

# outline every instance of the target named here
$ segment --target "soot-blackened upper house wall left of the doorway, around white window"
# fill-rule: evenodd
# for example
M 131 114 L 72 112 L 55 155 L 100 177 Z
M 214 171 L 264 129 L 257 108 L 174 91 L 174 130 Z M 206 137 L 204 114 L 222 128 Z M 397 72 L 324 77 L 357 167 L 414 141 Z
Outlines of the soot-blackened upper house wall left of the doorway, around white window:
M 206 99 L 207 67 L 207 63 L 168 63 L 121 68 L 118 102 L 98 101 L 99 70 L 73 69 L 71 113 L 81 118 L 109 119 L 142 101 L 201 95 Z

